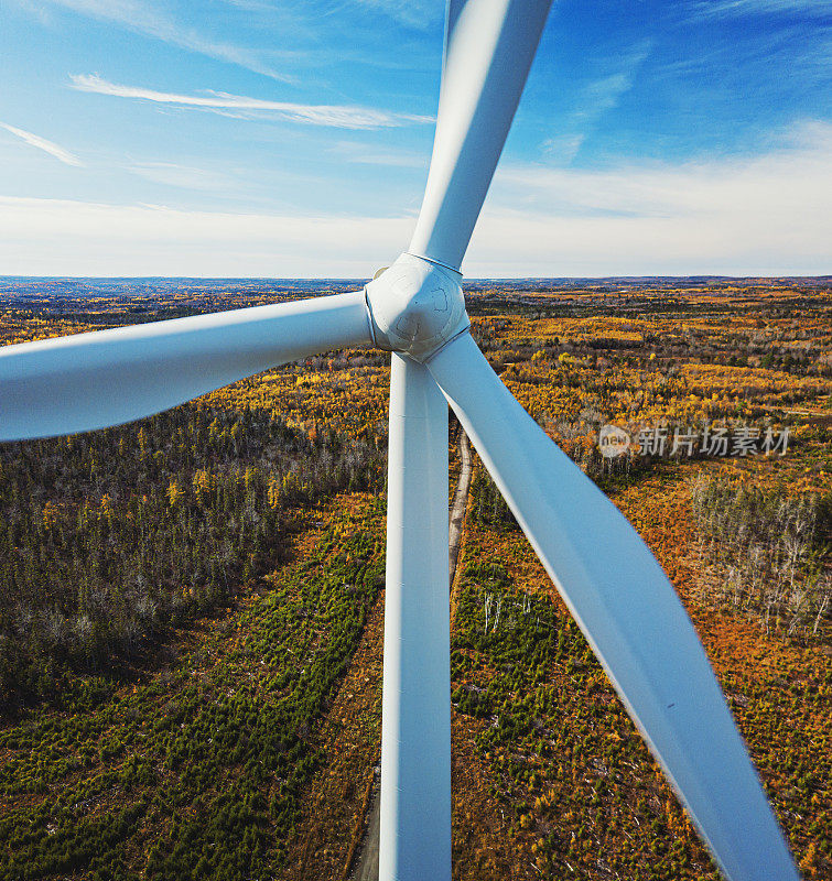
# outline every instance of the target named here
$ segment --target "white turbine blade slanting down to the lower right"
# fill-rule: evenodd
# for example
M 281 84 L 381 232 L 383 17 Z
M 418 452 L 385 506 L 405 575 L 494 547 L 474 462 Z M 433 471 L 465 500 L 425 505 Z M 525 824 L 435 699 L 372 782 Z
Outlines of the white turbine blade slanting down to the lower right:
M 428 363 L 723 872 L 798 879 L 693 624 L 639 535 L 469 334 Z

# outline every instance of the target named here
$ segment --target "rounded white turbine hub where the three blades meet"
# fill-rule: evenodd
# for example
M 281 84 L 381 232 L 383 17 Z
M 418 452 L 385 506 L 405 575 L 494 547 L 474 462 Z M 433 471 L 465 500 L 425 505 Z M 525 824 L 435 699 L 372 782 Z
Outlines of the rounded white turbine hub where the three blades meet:
M 365 287 L 376 345 L 428 360 L 471 326 L 461 281 L 447 267 L 401 254 Z

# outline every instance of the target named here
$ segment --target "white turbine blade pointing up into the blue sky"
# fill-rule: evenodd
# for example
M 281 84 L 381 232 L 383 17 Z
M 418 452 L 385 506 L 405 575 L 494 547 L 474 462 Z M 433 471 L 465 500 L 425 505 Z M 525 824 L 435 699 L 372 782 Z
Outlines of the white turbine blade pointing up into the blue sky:
M 458 269 L 551 0 L 450 0 L 436 135 L 409 251 Z

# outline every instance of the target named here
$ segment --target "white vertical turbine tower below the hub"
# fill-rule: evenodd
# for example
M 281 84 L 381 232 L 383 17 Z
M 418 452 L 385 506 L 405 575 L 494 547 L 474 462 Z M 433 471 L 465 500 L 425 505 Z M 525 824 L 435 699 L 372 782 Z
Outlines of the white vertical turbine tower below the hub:
M 447 402 L 393 354 L 379 881 L 451 881 Z

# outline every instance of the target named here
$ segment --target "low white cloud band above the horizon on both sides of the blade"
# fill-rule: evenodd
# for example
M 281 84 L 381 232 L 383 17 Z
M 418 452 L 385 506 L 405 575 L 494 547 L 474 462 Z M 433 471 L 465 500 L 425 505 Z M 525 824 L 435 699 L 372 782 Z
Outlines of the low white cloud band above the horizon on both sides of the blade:
M 603 172 L 501 167 L 469 276 L 828 274 L 832 124 L 744 157 Z M 520 210 L 518 206 L 521 206 Z M 175 210 L 0 197 L 12 274 L 367 278 L 410 216 Z

